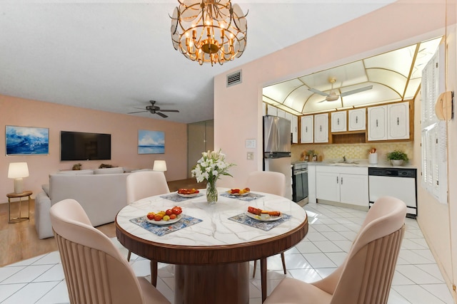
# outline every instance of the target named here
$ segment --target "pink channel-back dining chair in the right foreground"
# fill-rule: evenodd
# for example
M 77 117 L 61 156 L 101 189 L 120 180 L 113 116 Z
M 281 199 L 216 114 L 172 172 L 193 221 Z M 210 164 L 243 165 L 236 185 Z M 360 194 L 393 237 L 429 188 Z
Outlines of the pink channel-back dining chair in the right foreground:
M 403 201 L 390 196 L 379 198 L 336 271 L 315 283 L 284 278 L 263 303 L 387 303 L 405 216 Z

